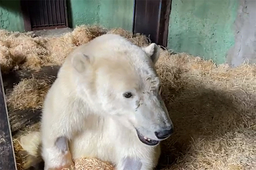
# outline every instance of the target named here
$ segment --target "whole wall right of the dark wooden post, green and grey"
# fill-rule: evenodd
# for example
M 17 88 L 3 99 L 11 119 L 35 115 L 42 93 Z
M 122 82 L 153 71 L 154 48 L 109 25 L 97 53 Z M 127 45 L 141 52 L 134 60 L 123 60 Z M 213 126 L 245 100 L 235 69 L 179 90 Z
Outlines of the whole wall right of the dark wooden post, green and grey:
M 168 48 L 217 64 L 256 63 L 256 0 L 173 0 Z

